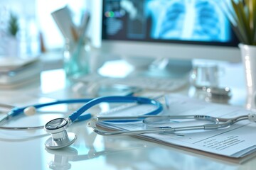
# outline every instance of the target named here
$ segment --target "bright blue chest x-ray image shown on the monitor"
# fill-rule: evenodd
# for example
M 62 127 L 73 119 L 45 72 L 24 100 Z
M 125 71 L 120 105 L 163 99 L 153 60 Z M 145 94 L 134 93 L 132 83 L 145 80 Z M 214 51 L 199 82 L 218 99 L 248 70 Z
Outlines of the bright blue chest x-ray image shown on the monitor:
M 148 0 L 152 18 L 151 38 L 225 42 L 230 39 L 229 23 L 219 0 Z

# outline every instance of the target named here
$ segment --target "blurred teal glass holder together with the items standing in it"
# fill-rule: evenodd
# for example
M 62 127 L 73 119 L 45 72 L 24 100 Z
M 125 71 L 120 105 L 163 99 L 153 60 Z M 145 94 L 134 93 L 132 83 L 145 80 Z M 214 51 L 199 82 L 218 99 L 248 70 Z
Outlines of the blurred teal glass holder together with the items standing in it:
M 79 77 L 89 72 L 90 39 L 86 32 L 90 14 L 82 15 L 80 26 L 75 26 L 68 6 L 52 13 L 53 19 L 65 38 L 63 52 L 64 70 L 67 78 Z

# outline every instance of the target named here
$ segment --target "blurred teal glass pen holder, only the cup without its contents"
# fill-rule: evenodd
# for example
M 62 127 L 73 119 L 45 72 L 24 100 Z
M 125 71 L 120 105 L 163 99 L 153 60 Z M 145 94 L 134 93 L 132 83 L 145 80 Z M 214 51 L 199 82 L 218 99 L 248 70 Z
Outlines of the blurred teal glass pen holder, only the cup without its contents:
M 66 40 L 63 65 L 68 79 L 88 74 L 90 60 L 90 40 Z

